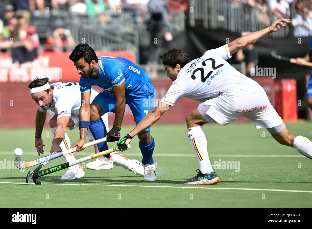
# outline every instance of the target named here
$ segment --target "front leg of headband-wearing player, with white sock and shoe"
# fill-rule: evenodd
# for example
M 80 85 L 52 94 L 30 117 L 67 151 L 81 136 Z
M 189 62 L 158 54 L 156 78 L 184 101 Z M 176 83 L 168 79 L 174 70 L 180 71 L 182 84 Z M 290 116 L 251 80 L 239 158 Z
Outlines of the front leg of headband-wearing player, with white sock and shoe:
M 56 126 L 57 126 L 57 116 L 54 115 L 50 121 L 49 121 L 49 125 L 51 127 L 51 132 L 52 135 L 54 137 L 55 131 L 56 131 Z M 70 118 L 67 124 L 67 127 L 74 127 L 75 123 L 74 121 Z M 61 149 L 64 151 L 66 149 L 69 149 L 69 147 L 71 146 L 71 140 L 69 139 L 67 133 L 65 132 L 65 137 L 63 139 L 63 141 L 60 144 Z M 66 162 L 71 162 L 76 160 L 75 156 L 70 153 L 70 154 L 66 154 L 64 155 L 65 161 Z M 74 165 L 70 168 L 68 168 L 66 174 L 64 174 L 61 179 L 62 180 L 73 180 L 76 178 L 80 178 L 83 177 L 85 175 L 85 172 L 83 171 L 82 167 L 80 164 Z

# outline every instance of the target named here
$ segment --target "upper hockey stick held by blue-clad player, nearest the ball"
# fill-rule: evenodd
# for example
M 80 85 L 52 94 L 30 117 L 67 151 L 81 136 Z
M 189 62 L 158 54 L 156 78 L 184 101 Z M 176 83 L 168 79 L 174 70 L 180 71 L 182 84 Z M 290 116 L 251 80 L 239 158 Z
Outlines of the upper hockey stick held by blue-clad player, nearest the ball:
M 85 145 L 83 145 L 83 147 L 85 148 L 85 147 L 93 146 L 93 145 L 98 144 L 98 143 L 103 142 L 103 141 L 106 141 L 106 137 L 105 137 L 105 138 L 98 139 L 98 140 L 96 140 L 96 141 L 88 142 L 88 143 L 86 143 Z M 53 154 L 47 155 L 47 156 L 45 156 L 45 157 L 41 157 L 41 158 L 38 158 L 38 159 L 36 159 L 36 160 L 32 160 L 32 161 L 25 162 L 25 163 L 22 163 L 22 164 L 20 163 L 21 158 L 20 158 L 20 157 L 17 157 L 17 158 L 15 158 L 15 160 L 14 160 L 14 164 L 15 164 L 15 166 L 16 166 L 17 168 L 19 168 L 19 169 L 26 169 L 26 168 L 28 168 L 28 167 L 41 164 L 42 162 L 50 161 L 50 160 L 56 159 L 56 158 L 58 158 L 58 157 L 64 156 L 64 155 L 66 155 L 66 154 L 75 152 L 76 149 L 77 149 L 77 147 L 72 148 L 72 149 L 68 149 L 68 150 L 64 150 L 64 151 L 60 151 L 60 152 L 53 153 Z

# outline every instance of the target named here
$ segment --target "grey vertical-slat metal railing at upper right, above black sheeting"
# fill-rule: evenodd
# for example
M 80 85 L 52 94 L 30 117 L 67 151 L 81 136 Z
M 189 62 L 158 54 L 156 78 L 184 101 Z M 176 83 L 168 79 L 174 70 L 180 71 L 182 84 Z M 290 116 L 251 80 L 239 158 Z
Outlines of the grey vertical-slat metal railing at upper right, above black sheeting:
M 196 22 L 201 22 L 206 29 L 224 29 L 233 33 L 254 32 L 268 27 L 262 18 L 257 17 L 256 9 L 248 5 L 234 4 L 229 0 L 190 0 L 190 7 L 193 7 L 193 13 L 190 12 L 189 24 L 195 26 Z M 270 9 L 265 9 L 270 23 L 277 20 L 272 15 Z M 287 16 L 290 16 L 288 10 Z M 270 24 L 271 25 L 271 24 Z M 268 34 L 265 37 L 289 37 L 290 26 L 282 30 Z

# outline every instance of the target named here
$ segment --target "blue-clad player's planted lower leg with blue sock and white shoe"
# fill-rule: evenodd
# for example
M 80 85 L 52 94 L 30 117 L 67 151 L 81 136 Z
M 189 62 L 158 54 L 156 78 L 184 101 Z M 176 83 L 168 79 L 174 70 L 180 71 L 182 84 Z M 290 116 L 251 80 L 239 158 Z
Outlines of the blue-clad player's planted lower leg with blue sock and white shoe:
M 153 160 L 153 151 L 155 147 L 154 138 L 150 135 L 150 131 L 142 131 L 138 133 L 139 147 L 142 152 L 142 164 L 144 164 L 144 181 L 155 181 L 155 165 Z

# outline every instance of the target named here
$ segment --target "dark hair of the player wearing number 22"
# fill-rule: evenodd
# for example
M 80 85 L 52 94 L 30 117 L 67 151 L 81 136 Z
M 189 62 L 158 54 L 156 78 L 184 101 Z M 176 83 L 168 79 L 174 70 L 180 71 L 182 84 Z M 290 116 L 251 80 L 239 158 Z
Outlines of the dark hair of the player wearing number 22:
M 159 58 L 160 60 L 163 60 L 163 65 L 166 64 L 173 68 L 175 68 L 177 64 L 180 64 L 181 68 L 183 68 L 188 62 L 191 61 L 189 56 L 182 49 L 169 50 Z

